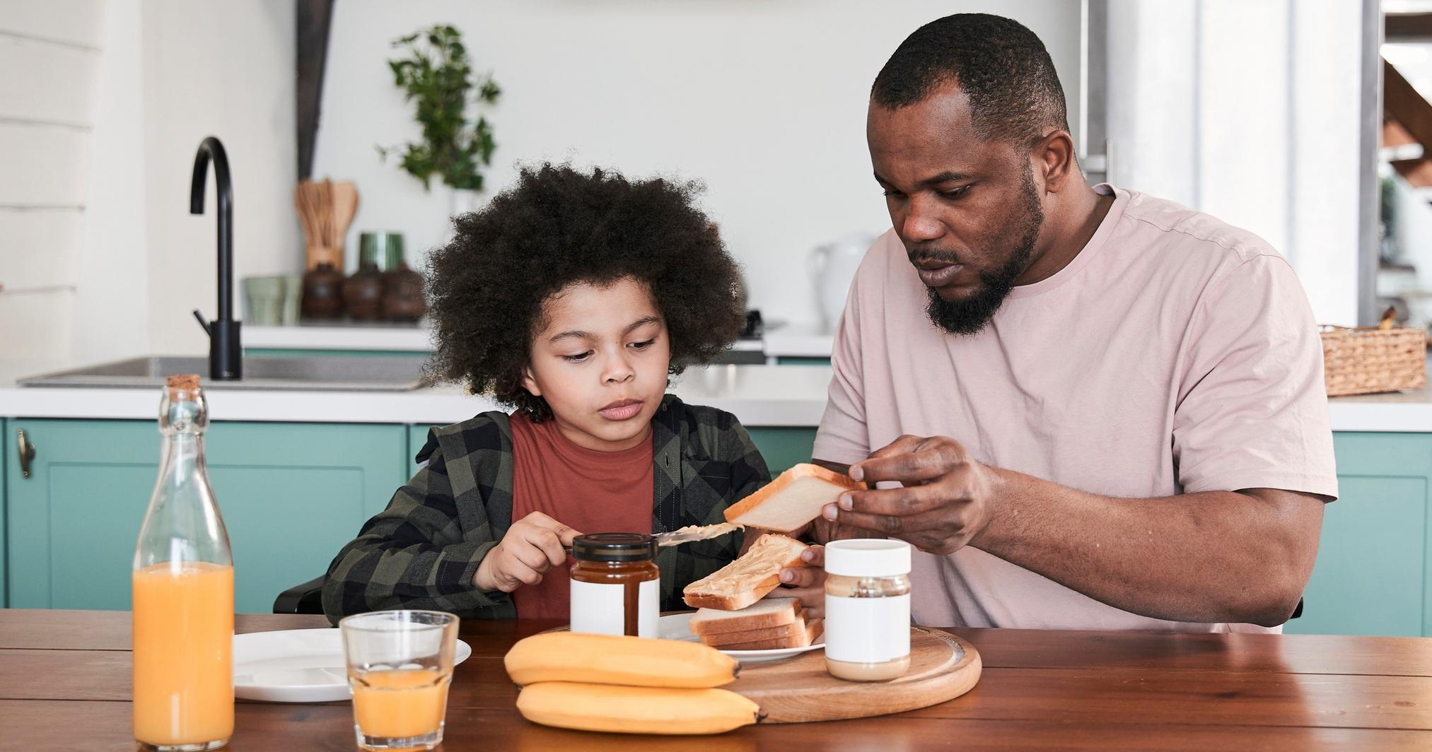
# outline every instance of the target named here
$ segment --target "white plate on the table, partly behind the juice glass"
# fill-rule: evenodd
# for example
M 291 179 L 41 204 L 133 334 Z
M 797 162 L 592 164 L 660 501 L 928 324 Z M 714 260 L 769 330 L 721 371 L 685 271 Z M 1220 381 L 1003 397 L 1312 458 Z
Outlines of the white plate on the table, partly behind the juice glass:
M 453 665 L 473 649 L 457 640 Z M 233 636 L 233 696 L 265 702 L 347 700 L 348 672 L 337 629 L 285 629 Z

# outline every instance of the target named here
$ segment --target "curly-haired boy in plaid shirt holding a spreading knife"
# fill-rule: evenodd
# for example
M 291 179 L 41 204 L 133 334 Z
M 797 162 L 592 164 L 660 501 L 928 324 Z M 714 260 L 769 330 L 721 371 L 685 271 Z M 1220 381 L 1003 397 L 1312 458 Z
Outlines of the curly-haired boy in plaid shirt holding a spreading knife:
M 511 414 L 435 428 L 427 466 L 328 567 L 337 623 L 377 609 L 567 619 L 581 533 L 725 521 L 770 480 L 735 415 L 667 395 L 740 331 L 740 274 L 697 188 L 570 166 L 454 219 L 428 262 L 431 370 Z M 740 534 L 662 549 L 662 609 L 736 557 Z

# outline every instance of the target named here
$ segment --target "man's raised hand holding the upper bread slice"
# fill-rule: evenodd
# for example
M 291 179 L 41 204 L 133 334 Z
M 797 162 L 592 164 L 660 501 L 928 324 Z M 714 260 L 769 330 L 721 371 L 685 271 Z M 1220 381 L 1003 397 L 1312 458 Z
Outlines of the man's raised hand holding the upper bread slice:
M 909 541 L 947 554 L 971 543 L 990 521 L 998 477 L 954 438 L 902 435 L 851 466 L 851 477 L 902 488 L 846 491 L 826 504 L 826 520 Z

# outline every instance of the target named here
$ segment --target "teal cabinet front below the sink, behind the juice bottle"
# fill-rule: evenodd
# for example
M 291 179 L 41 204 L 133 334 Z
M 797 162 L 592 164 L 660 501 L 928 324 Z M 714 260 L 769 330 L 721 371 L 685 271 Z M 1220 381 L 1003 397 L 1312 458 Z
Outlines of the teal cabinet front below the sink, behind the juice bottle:
M 127 609 L 135 539 L 158 474 L 155 421 L 10 420 L 36 445 L 6 453 L 9 606 Z M 10 438 L 13 443 L 13 437 Z M 407 427 L 215 423 L 209 478 L 233 547 L 236 610 L 321 574 L 408 477 Z

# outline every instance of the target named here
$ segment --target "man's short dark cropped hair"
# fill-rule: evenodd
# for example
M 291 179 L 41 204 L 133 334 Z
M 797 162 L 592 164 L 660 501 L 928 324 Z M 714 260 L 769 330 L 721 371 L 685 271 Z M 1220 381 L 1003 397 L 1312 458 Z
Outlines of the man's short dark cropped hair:
M 1044 43 L 1020 21 L 985 13 L 945 16 L 905 37 L 875 76 L 871 102 L 896 110 L 951 80 L 969 97 L 981 139 L 1034 142 L 1070 127 Z

